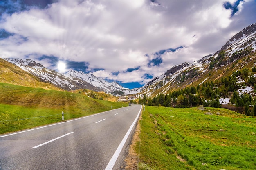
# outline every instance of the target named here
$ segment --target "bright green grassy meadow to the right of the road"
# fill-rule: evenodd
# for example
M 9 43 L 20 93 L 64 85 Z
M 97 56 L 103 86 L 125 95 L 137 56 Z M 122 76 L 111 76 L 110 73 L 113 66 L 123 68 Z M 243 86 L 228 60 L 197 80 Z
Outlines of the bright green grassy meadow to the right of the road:
M 247 170 L 256 167 L 256 119 L 220 108 L 146 106 L 139 169 Z M 216 115 L 216 113 L 220 115 Z

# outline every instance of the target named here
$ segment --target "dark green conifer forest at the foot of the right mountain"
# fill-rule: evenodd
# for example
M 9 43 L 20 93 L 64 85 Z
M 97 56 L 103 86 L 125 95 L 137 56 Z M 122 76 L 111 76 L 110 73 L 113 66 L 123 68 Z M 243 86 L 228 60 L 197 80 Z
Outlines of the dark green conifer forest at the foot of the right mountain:
M 144 94 L 139 97 L 139 104 L 165 107 L 222 107 L 219 99 L 230 98 L 230 103 L 236 107 L 243 108 L 246 115 L 256 116 L 256 98 L 250 94 L 238 94 L 237 90 L 245 86 L 253 87 L 256 92 L 256 68 L 243 68 L 233 72 L 231 76 L 222 77 L 220 81 L 203 82 L 196 87 L 186 87 L 168 94 L 158 94 L 150 98 Z M 239 80 L 239 81 L 238 81 Z M 135 102 L 135 101 L 132 101 Z

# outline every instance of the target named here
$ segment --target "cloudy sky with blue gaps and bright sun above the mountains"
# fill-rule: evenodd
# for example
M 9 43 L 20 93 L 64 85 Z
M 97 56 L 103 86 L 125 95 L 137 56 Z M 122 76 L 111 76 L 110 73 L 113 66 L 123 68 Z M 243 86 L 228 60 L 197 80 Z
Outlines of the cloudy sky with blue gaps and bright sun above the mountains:
M 256 23 L 256 0 L 0 0 L 0 57 L 140 87 Z

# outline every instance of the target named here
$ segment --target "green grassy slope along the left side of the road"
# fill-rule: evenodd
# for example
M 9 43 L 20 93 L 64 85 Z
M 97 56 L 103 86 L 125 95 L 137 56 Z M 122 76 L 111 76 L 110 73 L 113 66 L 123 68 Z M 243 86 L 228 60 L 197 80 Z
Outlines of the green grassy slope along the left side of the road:
M 0 83 L 0 134 L 122 107 L 79 92 L 45 90 Z M 124 105 L 125 106 L 125 105 Z

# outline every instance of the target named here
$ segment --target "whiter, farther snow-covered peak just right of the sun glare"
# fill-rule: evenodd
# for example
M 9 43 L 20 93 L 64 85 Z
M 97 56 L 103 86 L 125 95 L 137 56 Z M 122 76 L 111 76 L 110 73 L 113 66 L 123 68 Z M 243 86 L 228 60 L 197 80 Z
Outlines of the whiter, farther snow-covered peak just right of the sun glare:
M 108 82 L 104 80 L 103 78 L 98 78 L 94 76 L 93 74 L 84 73 L 82 71 L 76 71 L 71 70 L 65 74 L 65 76 L 68 76 L 70 78 L 78 78 L 80 80 L 86 81 L 93 85 L 94 87 L 97 87 L 103 92 L 111 93 L 113 91 L 119 91 L 119 90 L 126 90 L 127 88 L 122 87 L 117 82 Z

